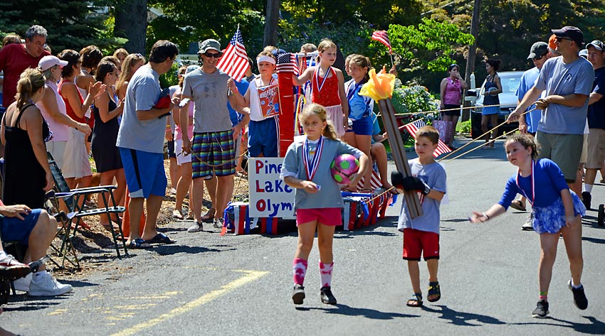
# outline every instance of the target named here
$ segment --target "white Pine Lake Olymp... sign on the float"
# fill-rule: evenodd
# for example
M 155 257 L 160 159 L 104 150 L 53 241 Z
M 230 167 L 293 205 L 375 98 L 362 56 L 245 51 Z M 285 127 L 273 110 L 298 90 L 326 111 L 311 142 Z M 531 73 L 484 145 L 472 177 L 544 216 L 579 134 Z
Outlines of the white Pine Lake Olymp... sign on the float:
M 250 217 L 295 218 L 294 188 L 280 179 L 283 158 L 249 158 Z

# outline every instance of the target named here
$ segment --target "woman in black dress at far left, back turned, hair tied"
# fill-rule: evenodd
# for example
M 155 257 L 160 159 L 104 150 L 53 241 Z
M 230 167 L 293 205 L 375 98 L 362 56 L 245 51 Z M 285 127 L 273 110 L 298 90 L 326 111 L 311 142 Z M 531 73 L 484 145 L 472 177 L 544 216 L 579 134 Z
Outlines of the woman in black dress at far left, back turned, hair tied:
M 43 207 L 44 195 L 53 188 L 53 175 L 46 157 L 45 139 L 50 137 L 36 102 L 44 95 L 46 78 L 38 69 L 26 69 L 17 82 L 16 102 L 2 118 L 0 139 L 4 146 L 5 205 Z

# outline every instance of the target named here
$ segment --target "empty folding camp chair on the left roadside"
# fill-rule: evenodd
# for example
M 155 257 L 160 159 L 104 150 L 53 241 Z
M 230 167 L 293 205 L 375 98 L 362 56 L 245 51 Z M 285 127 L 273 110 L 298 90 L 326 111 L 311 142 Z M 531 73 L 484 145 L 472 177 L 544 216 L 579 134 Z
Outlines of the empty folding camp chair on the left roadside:
M 67 214 L 61 215 L 61 211 L 57 211 L 58 216 L 56 216 L 56 218 L 63 224 L 57 231 L 57 236 L 61 238 L 61 246 L 53 246 L 53 249 L 55 249 L 63 259 L 61 261 L 61 265 L 58 266 L 64 267 L 65 261 L 68 261 L 76 268 L 80 267 L 80 261 L 78 261 L 77 254 L 75 253 L 75 248 L 73 246 L 73 238 L 78 232 L 78 226 L 80 225 L 82 218 L 93 215 L 107 215 L 107 217 L 110 217 L 112 214 L 116 215 L 117 232 L 113 225 L 109 226 L 115 251 L 118 258 L 121 258 L 122 256 L 120 254 L 120 247 L 121 249 L 124 249 L 124 254 L 128 255 L 124 234 L 122 232 L 122 223 L 120 216 L 117 216 L 125 211 L 125 207 L 117 206 L 117 202 L 115 201 L 115 197 L 113 195 L 113 190 L 116 188 L 115 185 L 101 185 L 99 187 L 70 190 L 67 183 L 65 183 L 63 173 L 61 173 L 61 170 L 54 161 L 51 153 L 47 152 L 47 156 L 48 165 L 51 168 L 53 180 L 55 181 L 55 187 L 58 191 L 58 193 L 53 195 L 54 197 L 53 200 L 51 200 L 51 203 L 53 203 L 53 206 L 59 210 L 60 207 L 57 200 L 62 199 L 68 209 Z M 99 199 L 97 200 L 98 207 L 96 209 L 86 209 L 84 207 L 86 197 L 90 194 L 96 193 L 100 195 Z M 120 242 L 122 246 L 120 246 Z M 72 259 L 68 257 L 68 254 L 73 256 Z

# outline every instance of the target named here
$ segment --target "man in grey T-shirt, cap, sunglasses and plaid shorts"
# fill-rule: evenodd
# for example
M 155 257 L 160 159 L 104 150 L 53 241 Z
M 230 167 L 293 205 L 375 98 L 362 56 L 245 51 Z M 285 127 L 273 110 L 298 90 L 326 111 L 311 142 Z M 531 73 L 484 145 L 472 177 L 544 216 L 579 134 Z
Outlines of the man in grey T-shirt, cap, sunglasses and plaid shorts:
M 233 100 L 233 94 L 229 95 L 229 75 L 216 67 L 223 54 L 221 44 L 213 39 L 204 40 L 198 54 L 203 65 L 185 76 L 181 96 L 181 99 L 189 98 L 195 102 L 194 139 L 191 141 L 186 136 L 183 137 L 183 151 L 193 155 L 191 207 L 195 222 L 187 232 L 203 231 L 201 202 L 204 179 L 212 178 L 213 173 L 218 178 L 214 227 L 223 227 L 223 210 L 231 198 L 233 175 L 236 173 L 236 146 L 227 102 L 233 106 L 237 104 Z M 237 88 L 234 90 L 237 91 Z M 181 125 L 187 123 L 186 110 L 182 109 Z

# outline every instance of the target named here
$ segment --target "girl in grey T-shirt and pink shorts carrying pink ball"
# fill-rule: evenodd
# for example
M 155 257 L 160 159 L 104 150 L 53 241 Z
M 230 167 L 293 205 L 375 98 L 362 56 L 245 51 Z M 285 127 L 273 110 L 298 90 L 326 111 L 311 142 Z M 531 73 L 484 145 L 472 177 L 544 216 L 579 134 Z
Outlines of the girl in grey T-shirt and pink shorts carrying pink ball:
M 368 158 L 357 148 L 337 139 L 332 122 L 326 121 L 327 112 L 320 104 L 305 105 L 299 115 L 305 131 L 305 141 L 294 142 L 288 147 L 283 161 L 280 178 L 295 189 L 294 209 L 298 226 L 298 247 L 293 261 L 295 305 L 302 304 L 305 287 L 302 286 L 307 273 L 307 259 L 313 247 L 315 231 L 320 249 L 321 300 L 336 304 L 332 295 L 331 281 L 334 266 L 332 239 L 334 229 L 342 224 L 341 209 L 344 206 L 340 186 L 330 174 L 330 163 L 343 153 L 359 158 L 359 173 L 349 183 L 354 188 L 369 169 Z

